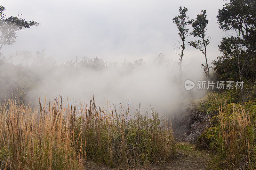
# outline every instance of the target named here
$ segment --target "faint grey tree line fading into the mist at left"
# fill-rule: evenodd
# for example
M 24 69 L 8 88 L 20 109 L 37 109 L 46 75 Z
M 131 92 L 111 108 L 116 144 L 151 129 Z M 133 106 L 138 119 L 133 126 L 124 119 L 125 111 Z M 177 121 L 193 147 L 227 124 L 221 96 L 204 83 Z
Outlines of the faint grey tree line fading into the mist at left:
M 44 84 L 44 81 L 49 81 L 51 78 L 61 81 L 63 75 L 70 78 L 76 74 L 81 74 L 81 72 L 89 74 L 92 71 L 101 74 L 108 69 L 114 69 L 119 72 L 119 75 L 125 76 L 132 74 L 133 70 L 144 64 L 141 58 L 133 62 L 124 60 L 121 66 L 117 66 L 117 63 L 107 63 L 98 57 L 83 57 L 82 59 L 76 57 L 74 60 L 57 65 L 51 57 L 45 55 L 44 50 L 36 53 L 20 51 L 13 55 L 19 56 L 23 63 L 18 65 L 10 62 L 0 64 L 0 101 L 8 99 L 11 95 L 13 98 L 20 99 L 20 102 L 27 102 L 28 92 L 33 91 L 38 85 Z M 8 58 L 12 58 L 12 56 Z M 86 79 L 86 77 L 84 78 Z M 47 88 L 45 90 L 47 91 Z

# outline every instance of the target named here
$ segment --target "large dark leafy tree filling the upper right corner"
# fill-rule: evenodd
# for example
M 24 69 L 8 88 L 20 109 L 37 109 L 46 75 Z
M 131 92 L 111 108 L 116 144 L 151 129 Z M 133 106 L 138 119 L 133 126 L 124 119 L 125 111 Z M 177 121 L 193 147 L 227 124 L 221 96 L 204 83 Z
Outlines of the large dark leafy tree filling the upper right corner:
M 223 53 L 222 60 L 214 61 L 215 70 L 220 64 L 234 61 L 233 72 L 241 82 L 246 81 L 247 89 L 241 90 L 242 100 L 245 102 L 256 82 L 256 1 L 230 0 L 218 12 L 220 28 L 227 31 L 219 46 Z M 223 75 L 223 74 L 221 74 Z

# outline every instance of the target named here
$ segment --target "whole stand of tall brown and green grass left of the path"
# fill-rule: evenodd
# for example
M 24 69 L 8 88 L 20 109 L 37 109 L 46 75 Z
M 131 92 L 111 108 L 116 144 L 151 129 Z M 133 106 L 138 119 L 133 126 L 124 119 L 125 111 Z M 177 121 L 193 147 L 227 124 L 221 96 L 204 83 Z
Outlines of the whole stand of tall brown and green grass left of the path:
M 164 162 L 175 154 L 172 130 L 155 110 L 131 116 L 115 107 L 54 102 L 32 109 L 8 100 L 0 107 L 0 169 L 82 169 Z

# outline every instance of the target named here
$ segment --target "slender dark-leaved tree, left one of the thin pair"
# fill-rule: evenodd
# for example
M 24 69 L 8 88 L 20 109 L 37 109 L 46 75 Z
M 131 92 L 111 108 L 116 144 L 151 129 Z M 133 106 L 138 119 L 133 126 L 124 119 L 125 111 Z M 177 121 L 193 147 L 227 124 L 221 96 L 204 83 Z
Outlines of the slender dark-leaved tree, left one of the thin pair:
M 179 12 L 180 12 L 180 14 L 178 16 L 174 17 L 172 20 L 173 20 L 173 23 L 178 28 L 178 31 L 179 31 L 178 34 L 179 34 L 180 39 L 182 41 L 181 44 L 178 41 L 179 46 L 177 46 L 175 44 L 176 48 L 178 48 L 180 50 L 179 53 L 175 50 L 175 47 L 174 47 L 174 50 L 175 50 L 176 54 L 178 54 L 180 56 L 179 66 L 180 66 L 180 76 L 181 76 L 182 75 L 182 59 L 183 59 L 183 56 L 184 56 L 184 49 L 185 49 L 185 39 L 188 36 L 188 28 L 187 28 L 187 25 L 188 25 L 187 20 L 189 19 L 189 17 L 187 17 L 188 8 L 183 7 L 183 9 L 182 9 L 182 7 L 180 6 Z

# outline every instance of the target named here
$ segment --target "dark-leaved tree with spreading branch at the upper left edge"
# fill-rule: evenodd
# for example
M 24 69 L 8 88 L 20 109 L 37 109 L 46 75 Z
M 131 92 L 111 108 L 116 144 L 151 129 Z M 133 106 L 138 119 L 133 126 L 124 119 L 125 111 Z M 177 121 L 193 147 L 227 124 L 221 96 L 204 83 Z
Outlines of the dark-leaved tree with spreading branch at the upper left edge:
M 15 43 L 15 39 L 17 38 L 17 31 L 22 28 L 29 28 L 30 26 L 37 26 L 38 23 L 36 21 L 27 21 L 23 18 L 20 18 L 20 13 L 17 16 L 10 16 L 6 18 L 7 15 L 4 14 L 4 6 L 0 6 L 0 60 L 8 60 L 9 58 L 5 58 L 1 49 L 4 45 L 12 45 Z

